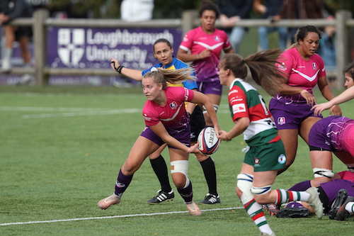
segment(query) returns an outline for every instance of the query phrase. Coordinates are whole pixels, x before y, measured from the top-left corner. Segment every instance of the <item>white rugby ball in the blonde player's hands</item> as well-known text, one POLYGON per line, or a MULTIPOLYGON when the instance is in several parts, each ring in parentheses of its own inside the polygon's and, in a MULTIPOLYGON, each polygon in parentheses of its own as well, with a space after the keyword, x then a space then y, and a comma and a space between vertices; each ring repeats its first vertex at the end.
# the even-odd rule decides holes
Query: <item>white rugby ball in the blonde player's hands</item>
POLYGON ((221 140, 217 138, 213 127, 206 127, 198 135, 198 148, 204 154, 213 154, 219 148, 221 140))

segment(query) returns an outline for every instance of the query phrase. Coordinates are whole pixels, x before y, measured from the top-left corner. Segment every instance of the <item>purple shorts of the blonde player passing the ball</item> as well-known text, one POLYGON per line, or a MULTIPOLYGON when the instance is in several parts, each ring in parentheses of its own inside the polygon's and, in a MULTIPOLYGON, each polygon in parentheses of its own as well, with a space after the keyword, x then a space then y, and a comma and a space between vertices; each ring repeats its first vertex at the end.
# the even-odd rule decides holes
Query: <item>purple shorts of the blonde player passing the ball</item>
MULTIPOLYGON (((172 137, 176 138, 176 140, 182 142, 185 146, 190 147, 190 126, 189 125, 184 129, 169 130, 166 128, 166 130, 172 137)), ((162 140, 161 137, 156 135, 154 131, 152 131, 152 129, 149 128, 148 126, 145 127, 144 130, 142 130, 142 134, 140 136, 146 137, 148 140, 155 142, 159 146, 165 143, 164 140, 162 140)), ((170 145, 168 146, 172 147, 170 145)), ((176 148, 176 147, 172 147, 172 148, 176 148)))

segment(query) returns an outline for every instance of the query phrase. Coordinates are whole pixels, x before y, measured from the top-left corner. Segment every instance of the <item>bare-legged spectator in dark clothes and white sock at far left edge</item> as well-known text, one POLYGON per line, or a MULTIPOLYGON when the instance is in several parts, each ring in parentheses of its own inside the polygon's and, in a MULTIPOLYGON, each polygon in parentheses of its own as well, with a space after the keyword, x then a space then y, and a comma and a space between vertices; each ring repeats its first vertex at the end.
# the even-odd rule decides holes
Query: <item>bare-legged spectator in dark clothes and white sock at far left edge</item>
MULTIPOLYGON (((2 0, 0 3, 0 25, 4 26, 6 47, 4 57, 1 63, 2 72, 11 71, 11 55, 13 51, 13 42, 18 41, 21 47, 21 55, 25 67, 30 67, 30 49, 29 38, 32 35, 32 29, 29 26, 10 26, 9 23, 16 18, 32 17, 32 10, 25 0, 2 0)), ((26 76, 26 75, 25 75, 26 76)), ((31 79, 30 75, 27 75, 31 79)), ((25 79, 23 77, 22 79, 25 79)))

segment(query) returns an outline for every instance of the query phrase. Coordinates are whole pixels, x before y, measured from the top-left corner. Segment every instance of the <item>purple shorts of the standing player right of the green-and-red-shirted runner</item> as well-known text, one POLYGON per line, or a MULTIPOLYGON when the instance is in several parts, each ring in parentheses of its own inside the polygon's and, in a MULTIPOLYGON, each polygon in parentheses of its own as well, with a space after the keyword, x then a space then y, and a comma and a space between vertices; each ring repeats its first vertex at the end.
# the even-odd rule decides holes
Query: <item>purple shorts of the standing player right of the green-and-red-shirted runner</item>
MULTIPOLYGON (((296 106, 282 103, 272 98, 269 102, 270 113, 272 113, 278 130, 299 129, 300 124, 309 116, 314 116, 311 106, 307 103, 297 103, 296 106)), ((322 118, 323 116, 316 116, 322 118)))

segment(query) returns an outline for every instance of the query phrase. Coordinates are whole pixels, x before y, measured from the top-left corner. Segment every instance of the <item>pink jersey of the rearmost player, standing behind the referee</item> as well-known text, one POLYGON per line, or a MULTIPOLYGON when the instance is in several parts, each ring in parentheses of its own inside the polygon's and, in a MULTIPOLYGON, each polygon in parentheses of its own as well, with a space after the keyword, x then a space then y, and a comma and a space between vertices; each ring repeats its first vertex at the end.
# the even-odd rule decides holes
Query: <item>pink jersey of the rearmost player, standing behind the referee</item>
POLYGON ((207 34, 202 27, 188 31, 179 46, 191 54, 199 54, 205 49, 211 50, 211 56, 193 62, 195 64, 196 77, 198 82, 215 81, 219 79, 217 75, 217 65, 219 64, 222 50, 227 50, 231 46, 227 33, 215 28, 214 33, 207 34))

